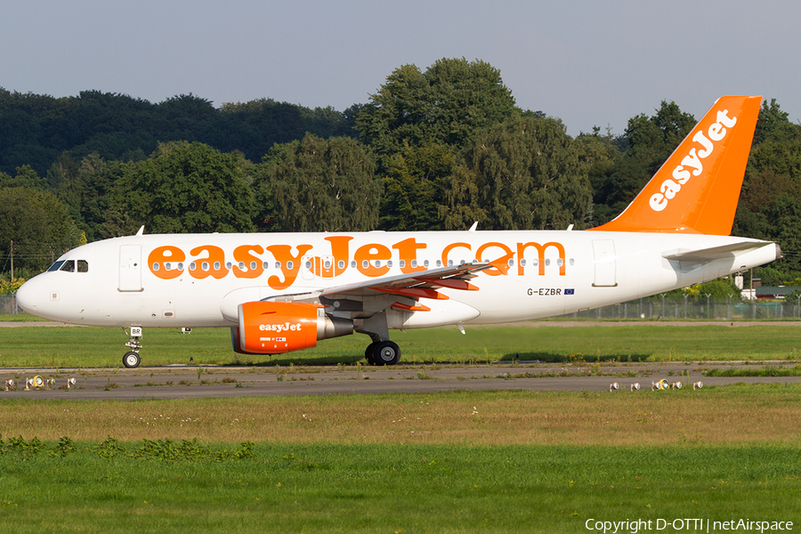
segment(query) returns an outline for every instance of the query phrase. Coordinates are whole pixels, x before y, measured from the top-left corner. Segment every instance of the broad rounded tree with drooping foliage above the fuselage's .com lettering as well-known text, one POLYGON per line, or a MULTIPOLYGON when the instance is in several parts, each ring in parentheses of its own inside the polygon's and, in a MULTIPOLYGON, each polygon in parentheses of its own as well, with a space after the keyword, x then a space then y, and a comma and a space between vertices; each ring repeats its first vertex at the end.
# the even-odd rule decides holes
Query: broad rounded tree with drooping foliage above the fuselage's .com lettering
POLYGON ((563 230, 587 225, 592 190, 580 145, 554 118, 515 115, 481 130, 449 183, 449 229, 563 230))

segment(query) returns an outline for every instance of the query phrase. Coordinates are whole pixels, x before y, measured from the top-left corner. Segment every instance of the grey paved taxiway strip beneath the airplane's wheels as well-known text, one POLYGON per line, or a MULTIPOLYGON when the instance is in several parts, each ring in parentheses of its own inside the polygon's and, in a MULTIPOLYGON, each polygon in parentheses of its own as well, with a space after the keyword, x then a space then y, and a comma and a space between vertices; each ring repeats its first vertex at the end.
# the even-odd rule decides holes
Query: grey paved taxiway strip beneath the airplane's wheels
POLYGON ((524 390, 609 392, 617 382, 619 393, 631 394, 632 384, 650 390, 665 379, 684 387, 702 381, 704 387, 726 384, 799 383, 801 376, 703 376, 709 368, 792 367, 787 362, 603 363, 589 365, 490 364, 475 366, 364 366, 304 368, 231 368, 170 366, 165 368, 0 368, 0 386, 11 378, 12 391, 0 399, 85 399, 134 401, 141 399, 196 399, 279 395, 427 393, 446 391, 524 390), (686 374, 689 372, 689 376, 686 374), (53 378, 54 389, 24 391, 26 378, 53 378), (74 377, 74 389, 66 389, 74 377))

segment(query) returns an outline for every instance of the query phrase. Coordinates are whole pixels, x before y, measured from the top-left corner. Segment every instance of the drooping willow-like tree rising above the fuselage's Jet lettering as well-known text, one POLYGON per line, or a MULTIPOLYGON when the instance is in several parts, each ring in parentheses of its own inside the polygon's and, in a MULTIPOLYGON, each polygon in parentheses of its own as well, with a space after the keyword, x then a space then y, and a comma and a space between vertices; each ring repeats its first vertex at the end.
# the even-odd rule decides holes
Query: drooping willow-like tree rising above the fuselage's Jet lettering
POLYGON ((378 223, 382 185, 375 159, 348 137, 276 145, 256 176, 258 216, 276 231, 368 231, 378 223))

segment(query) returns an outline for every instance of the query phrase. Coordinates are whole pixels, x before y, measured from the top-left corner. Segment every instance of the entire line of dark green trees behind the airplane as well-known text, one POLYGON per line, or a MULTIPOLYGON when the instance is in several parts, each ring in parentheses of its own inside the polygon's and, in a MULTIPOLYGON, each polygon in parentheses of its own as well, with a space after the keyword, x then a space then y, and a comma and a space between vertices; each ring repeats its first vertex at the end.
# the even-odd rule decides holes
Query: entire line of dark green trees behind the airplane
MULTIPOLYGON (((696 120, 675 102, 623 134, 567 134, 498 69, 403 65, 344 112, 192 94, 158 104, 0 88, 0 272, 82 241, 228 231, 578 230, 619 214, 696 120)), ((801 126, 764 101, 733 233, 780 243, 764 283, 801 278, 801 126)), ((756 275, 755 275, 756 276, 756 275)))

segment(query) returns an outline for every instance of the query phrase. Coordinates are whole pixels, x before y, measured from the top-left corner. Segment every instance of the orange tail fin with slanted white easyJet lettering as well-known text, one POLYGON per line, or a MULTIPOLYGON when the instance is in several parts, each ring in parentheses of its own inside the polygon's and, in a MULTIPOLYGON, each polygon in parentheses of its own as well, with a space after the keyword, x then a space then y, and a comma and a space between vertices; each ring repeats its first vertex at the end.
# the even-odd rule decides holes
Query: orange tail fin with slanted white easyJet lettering
POLYGON ((729 235, 761 101, 716 101, 623 213, 592 230, 729 235))

